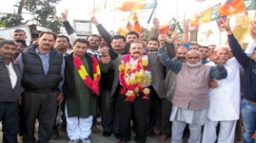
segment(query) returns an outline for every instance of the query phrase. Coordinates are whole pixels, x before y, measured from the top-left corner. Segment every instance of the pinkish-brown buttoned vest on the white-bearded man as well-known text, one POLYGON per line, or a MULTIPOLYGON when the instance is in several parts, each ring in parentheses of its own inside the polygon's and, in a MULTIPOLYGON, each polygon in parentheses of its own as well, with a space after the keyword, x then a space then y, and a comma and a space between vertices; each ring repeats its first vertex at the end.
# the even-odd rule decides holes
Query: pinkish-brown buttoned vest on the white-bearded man
POLYGON ((183 64, 181 71, 177 73, 172 104, 183 109, 207 109, 210 69, 211 66, 191 67, 183 64))

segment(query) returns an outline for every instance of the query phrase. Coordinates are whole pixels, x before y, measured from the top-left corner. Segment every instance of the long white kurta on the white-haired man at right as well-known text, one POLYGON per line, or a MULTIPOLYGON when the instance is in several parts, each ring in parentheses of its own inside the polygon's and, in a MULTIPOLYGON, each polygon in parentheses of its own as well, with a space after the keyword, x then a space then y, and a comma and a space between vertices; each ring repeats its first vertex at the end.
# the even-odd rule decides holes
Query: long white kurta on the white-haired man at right
POLYGON ((240 65, 235 58, 224 65, 228 77, 218 81, 218 88, 209 89, 207 117, 212 121, 236 120, 240 114, 240 65))

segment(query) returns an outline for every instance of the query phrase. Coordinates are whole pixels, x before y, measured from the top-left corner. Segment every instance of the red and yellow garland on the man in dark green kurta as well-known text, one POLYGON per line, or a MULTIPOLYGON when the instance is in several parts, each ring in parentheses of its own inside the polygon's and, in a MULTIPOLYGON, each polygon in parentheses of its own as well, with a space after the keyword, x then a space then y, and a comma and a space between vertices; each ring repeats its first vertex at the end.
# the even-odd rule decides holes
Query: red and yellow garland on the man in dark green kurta
POLYGON ((92 60, 92 72, 93 72, 93 80, 89 76, 86 71, 82 61, 78 56, 74 57, 74 65, 79 72, 79 76, 83 79, 84 83, 91 89, 92 94, 100 95, 99 90, 99 81, 101 79, 101 70, 98 61, 93 55, 90 55, 92 60))

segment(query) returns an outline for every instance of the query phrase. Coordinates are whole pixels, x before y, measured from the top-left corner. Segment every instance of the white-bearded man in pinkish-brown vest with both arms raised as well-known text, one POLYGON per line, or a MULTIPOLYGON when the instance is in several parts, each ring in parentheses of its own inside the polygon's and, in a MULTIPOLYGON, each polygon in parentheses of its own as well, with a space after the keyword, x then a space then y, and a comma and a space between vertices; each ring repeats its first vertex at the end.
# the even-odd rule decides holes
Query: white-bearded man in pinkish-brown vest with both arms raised
POLYGON ((218 66, 201 64, 201 53, 191 50, 186 55, 186 63, 171 60, 165 48, 159 49, 160 60, 177 74, 176 88, 172 98, 172 143, 183 142, 183 130, 189 123, 189 143, 201 142, 201 127, 207 120, 209 107, 208 83, 212 79, 223 79, 227 72, 222 66, 223 59, 216 59, 218 66))

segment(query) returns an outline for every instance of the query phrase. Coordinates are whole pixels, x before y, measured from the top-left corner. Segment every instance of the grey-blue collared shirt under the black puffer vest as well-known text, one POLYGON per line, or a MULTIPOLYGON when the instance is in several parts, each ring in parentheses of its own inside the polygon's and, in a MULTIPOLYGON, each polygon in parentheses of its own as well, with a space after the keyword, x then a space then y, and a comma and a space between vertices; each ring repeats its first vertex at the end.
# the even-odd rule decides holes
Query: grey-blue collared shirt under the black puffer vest
MULTIPOLYGON (((47 54, 42 54, 40 53, 40 51, 37 49, 35 49, 36 51, 36 54, 38 54, 39 58, 41 59, 42 61, 42 65, 43 65, 43 68, 44 68, 44 74, 47 75, 48 71, 49 71, 49 53, 47 54)), ((18 57, 17 57, 17 61, 19 62, 19 66, 20 66, 20 71, 21 73, 23 73, 23 69, 24 69, 24 65, 23 65, 23 60, 22 60, 22 54, 20 54, 18 57)), ((59 83, 59 89, 62 91, 62 85, 64 83, 64 70, 65 70, 65 60, 64 60, 64 57, 63 57, 63 60, 62 60, 62 64, 61 64, 61 77, 62 77, 62 80, 61 82, 59 83)))

